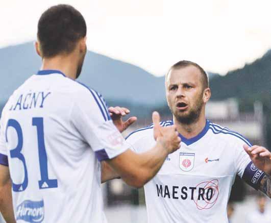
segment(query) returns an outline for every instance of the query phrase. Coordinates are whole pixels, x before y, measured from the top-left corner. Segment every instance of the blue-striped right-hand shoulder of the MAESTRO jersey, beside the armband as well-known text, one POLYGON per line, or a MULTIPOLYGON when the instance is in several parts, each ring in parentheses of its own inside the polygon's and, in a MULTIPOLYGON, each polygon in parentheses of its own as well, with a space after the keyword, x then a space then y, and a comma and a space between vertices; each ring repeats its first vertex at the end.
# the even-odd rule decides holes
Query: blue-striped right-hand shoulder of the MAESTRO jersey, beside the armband
POLYGON ((245 138, 243 135, 239 134, 238 132, 235 132, 227 127, 220 126, 216 123, 213 123, 210 121, 209 123, 209 130, 211 133, 219 138, 226 139, 229 143, 238 143, 243 144, 246 143, 251 146, 250 141, 245 138))

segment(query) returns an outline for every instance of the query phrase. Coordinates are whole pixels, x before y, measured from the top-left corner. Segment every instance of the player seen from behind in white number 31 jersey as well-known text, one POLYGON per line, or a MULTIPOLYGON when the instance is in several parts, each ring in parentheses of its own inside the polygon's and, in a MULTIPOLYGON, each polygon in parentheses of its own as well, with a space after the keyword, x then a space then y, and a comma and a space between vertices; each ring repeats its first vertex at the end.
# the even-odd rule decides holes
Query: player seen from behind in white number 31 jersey
POLYGON ((99 161, 141 187, 181 139, 176 128, 160 127, 156 112, 155 145, 140 155, 129 150, 101 94, 75 81, 87 50, 75 8, 46 10, 37 37, 41 70, 14 91, 1 117, 0 211, 8 223, 106 222, 99 161))

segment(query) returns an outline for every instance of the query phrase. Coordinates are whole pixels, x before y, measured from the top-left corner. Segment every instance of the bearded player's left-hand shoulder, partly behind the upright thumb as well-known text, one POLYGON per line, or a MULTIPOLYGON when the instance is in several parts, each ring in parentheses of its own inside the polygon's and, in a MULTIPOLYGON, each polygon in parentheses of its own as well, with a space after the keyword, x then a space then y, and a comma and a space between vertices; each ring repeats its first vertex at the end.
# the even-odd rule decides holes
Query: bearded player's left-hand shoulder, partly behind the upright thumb
MULTIPOLYGON (((160 125, 162 127, 171 126, 171 125, 173 125, 173 121, 172 120, 161 121, 160 125)), ((152 123, 150 126, 146 126, 146 127, 137 129, 134 132, 130 133, 126 137, 126 140, 140 139, 140 138, 143 138, 143 137, 146 137, 146 136, 153 137, 153 128, 154 128, 154 124, 152 123)))

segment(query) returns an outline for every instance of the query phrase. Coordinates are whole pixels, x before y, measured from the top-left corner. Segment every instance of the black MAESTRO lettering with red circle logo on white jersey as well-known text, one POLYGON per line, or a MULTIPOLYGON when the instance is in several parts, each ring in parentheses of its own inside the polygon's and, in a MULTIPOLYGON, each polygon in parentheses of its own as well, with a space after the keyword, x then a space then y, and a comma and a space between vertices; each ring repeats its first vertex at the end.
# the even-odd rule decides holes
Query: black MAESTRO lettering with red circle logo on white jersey
POLYGON ((168 186, 156 184, 157 196, 164 199, 190 200, 199 210, 212 208, 219 196, 218 180, 201 182, 196 186, 168 186))

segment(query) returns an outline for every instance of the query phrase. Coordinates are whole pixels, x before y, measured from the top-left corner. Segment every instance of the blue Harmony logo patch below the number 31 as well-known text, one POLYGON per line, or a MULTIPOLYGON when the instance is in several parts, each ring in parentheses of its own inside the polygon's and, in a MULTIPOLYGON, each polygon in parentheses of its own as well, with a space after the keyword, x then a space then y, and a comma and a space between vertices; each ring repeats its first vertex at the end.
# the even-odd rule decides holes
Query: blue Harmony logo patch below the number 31
POLYGON ((40 223, 44 219, 44 203, 41 201, 24 201, 16 209, 16 220, 40 223))

